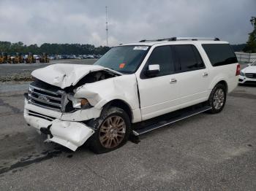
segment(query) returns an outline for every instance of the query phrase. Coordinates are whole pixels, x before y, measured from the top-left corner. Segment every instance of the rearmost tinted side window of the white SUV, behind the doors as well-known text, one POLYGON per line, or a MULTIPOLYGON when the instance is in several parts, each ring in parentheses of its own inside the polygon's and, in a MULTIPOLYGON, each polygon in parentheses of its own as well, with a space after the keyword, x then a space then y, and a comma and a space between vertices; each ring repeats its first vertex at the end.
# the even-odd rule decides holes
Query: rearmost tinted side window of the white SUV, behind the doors
POLYGON ((212 66, 237 63, 237 58, 230 44, 202 44, 212 66))

